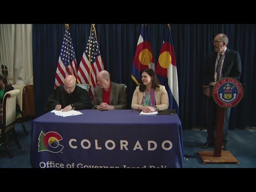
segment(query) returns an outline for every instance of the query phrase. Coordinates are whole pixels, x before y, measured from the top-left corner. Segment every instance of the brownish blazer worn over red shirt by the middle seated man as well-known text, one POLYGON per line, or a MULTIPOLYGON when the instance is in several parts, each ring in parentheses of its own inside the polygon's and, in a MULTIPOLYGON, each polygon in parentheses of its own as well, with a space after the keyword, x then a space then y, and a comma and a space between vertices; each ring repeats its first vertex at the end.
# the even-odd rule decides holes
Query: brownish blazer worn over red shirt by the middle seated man
MULTIPOLYGON (((93 108, 96 109, 98 105, 103 102, 103 91, 102 88, 96 87, 94 89, 94 102, 93 108)), ((127 100, 124 87, 120 84, 111 82, 110 89, 110 105, 114 106, 115 109, 126 109, 127 100)))

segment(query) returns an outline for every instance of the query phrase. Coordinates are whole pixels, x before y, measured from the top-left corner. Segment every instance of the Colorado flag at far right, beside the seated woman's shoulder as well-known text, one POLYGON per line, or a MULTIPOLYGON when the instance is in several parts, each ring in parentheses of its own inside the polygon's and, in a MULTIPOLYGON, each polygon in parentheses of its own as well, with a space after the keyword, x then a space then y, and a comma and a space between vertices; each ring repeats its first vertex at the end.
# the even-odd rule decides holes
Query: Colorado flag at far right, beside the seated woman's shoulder
POLYGON ((175 109, 177 114, 179 114, 178 75, 169 24, 155 72, 158 75, 160 83, 165 86, 168 92, 170 109, 175 109))

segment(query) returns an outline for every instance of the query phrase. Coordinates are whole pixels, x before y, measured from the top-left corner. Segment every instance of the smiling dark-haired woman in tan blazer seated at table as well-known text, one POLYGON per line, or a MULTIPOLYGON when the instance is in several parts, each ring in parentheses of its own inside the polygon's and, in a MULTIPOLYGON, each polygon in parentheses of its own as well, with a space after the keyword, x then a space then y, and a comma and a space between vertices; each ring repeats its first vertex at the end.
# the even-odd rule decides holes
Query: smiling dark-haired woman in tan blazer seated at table
POLYGON ((168 109, 169 98, 165 86, 160 85, 154 70, 142 71, 140 85, 132 96, 132 109, 145 113, 168 109))

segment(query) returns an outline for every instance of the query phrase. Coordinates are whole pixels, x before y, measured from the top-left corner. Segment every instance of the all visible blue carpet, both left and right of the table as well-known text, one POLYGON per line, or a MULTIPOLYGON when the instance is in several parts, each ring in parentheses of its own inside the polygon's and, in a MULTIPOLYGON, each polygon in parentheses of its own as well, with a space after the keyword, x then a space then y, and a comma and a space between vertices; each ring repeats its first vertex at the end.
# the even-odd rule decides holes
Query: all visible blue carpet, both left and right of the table
MULTIPOLYGON (((22 149, 16 146, 10 134, 9 148, 14 156, 12 159, 6 150, 0 147, 0 168, 31 168, 30 143, 32 120, 25 123, 28 136, 25 135, 21 124, 16 124, 16 132, 22 149)), ((184 168, 256 168, 256 132, 250 129, 229 130, 227 150, 229 150, 240 164, 202 164, 198 154, 201 146, 206 142, 206 131, 200 129, 183 130, 184 139, 184 168)))

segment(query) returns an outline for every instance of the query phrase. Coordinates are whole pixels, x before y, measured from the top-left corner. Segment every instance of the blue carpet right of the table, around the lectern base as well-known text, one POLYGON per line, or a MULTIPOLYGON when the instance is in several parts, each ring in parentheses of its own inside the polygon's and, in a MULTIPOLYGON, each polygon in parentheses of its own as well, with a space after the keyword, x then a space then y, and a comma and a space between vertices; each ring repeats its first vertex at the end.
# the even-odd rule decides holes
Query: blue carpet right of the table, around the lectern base
POLYGON ((226 150, 240 164, 202 164, 198 151, 213 151, 214 148, 202 149, 206 142, 207 132, 204 130, 184 130, 184 168, 256 168, 256 132, 246 129, 228 130, 226 150))

